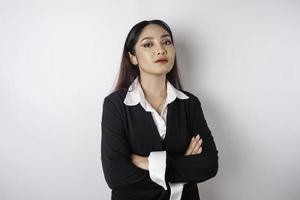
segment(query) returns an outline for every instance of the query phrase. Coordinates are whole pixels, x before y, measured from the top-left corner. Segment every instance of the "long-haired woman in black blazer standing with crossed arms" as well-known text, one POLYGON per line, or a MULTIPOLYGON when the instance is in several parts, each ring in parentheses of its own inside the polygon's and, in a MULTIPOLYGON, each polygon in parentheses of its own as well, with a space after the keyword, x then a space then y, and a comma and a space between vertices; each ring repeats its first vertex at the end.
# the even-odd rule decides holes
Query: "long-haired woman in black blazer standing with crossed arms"
POLYGON ((130 30, 101 126, 111 199, 199 200, 197 183, 218 171, 201 103, 181 87, 172 32, 161 20, 130 30))

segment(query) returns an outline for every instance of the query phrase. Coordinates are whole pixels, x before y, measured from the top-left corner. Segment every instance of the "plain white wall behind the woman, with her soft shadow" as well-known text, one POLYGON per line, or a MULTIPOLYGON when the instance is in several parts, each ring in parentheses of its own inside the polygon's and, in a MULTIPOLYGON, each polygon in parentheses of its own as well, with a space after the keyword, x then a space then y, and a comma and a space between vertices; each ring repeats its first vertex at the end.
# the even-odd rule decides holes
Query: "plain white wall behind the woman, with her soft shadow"
POLYGON ((300 199, 300 2, 0 0, 0 199, 109 200, 104 97, 142 20, 174 34, 219 150, 201 200, 300 199))

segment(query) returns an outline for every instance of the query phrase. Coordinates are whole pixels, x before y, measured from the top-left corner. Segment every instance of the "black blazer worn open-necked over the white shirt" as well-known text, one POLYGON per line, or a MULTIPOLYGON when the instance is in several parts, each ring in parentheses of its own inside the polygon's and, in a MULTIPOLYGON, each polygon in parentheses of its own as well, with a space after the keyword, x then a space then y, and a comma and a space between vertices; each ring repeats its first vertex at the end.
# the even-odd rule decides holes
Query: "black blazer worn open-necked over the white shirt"
POLYGON ((166 136, 162 140, 151 112, 140 104, 123 103, 127 90, 104 98, 101 121, 101 159, 105 180, 114 200, 169 200, 168 190, 150 178, 149 171, 136 167, 131 154, 149 156, 166 151, 166 182, 186 182, 182 200, 199 200, 197 183, 217 174, 218 150, 207 126, 199 99, 180 90, 188 99, 168 104, 166 136), (200 135, 202 153, 184 156, 191 138, 200 135))

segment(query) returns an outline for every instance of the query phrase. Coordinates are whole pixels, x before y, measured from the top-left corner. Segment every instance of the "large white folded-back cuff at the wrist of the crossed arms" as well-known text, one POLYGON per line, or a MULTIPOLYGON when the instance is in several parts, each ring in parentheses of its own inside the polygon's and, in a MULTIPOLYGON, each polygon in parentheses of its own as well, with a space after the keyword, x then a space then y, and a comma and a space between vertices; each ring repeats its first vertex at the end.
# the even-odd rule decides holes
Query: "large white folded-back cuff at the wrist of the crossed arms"
POLYGON ((148 157, 149 174, 152 181, 167 190, 165 181, 166 151, 152 151, 148 157))

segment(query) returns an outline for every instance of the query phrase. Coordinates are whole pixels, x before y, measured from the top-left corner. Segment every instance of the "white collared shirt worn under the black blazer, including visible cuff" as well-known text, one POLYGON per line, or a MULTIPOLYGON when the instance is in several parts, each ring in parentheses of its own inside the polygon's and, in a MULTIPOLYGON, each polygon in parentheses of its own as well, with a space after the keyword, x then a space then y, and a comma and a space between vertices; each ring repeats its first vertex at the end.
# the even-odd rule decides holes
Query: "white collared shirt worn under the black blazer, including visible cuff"
MULTIPOLYGON (((166 117, 168 104, 173 102, 176 98, 188 99, 189 97, 183 92, 176 89, 167 80, 167 98, 163 106, 161 114, 151 106, 151 104, 145 99, 143 89, 139 82, 139 76, 135 78, 132 84, 128 88, 124 103, 128 106, 137 105, 138 103, 144 108, 145 111, 151 112, 154 122, 156 124, 157 130, 162 139, 166 136, 166 117)), ((165 190, 167 190, 167 185, 165 182, 165 171, 166 171, 166 151, 153 151, 148 157, 149 161, 149 174, 150 178, 161 185, 165 190)), ((169 183, 171 188, 170 200, 180 200, 182 195, 183 186, 185 183, 169 183)))

